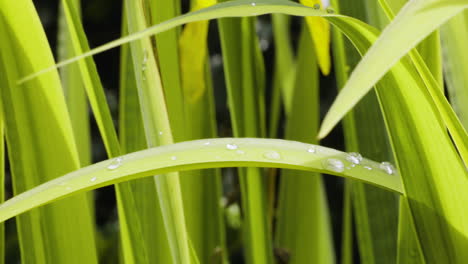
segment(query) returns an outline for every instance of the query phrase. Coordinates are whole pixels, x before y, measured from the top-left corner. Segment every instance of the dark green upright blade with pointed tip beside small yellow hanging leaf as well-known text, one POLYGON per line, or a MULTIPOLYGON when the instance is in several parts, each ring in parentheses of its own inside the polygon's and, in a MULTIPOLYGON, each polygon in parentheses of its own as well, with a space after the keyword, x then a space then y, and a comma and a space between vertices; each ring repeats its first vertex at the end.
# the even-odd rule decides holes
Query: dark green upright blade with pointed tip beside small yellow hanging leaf
MULTIPOLYGON (((319 69, 314 44, 304 25, 298 49, 292 111, 286 137, 316 143, 319 125, 319 69)), ((280 181, 276 246, 289 263, 335 263, 329 212, 322 178, 317 173, 284 170, 280 181)))

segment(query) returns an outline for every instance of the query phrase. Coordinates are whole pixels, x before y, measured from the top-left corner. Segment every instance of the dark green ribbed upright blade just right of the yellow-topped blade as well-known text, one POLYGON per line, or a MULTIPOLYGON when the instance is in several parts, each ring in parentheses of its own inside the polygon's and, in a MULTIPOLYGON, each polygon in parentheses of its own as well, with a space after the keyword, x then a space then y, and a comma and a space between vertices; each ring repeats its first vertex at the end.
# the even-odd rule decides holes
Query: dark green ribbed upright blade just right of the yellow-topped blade
MULTIPOLYGON (((255 20, 222 19, 219 20, 219 31, 234 136, 265 135, 265 117, 262 109, 264 72, 261 72, 263 59, 259 54, 255 20)), ((258 169, 248 168, 240 169, 239 176, 247 262, 271 263, 273 249, 266 215, 266 186, 263 175, 258 169)))

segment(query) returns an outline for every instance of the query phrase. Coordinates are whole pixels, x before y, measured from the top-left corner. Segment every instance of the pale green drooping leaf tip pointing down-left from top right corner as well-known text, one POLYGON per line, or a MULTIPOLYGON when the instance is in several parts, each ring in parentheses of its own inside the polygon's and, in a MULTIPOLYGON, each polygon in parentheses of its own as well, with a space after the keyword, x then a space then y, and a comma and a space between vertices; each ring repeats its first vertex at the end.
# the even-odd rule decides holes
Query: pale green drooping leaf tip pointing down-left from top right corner
POLYGON ((441 24, 468 7, 441 0, 410 1, 385 28, 338 95, 320 129, 324 137, 398 60, 441 24), (442 7, 433 7, 440 4, 442 7), (423 23, 424 22, 424 23, 423 23), (387 41, 387 40, 398 41, 387 41), (386 52, 391 50, 392 52, 386 52), (384 57, 382 57, 384 56, 384 57))

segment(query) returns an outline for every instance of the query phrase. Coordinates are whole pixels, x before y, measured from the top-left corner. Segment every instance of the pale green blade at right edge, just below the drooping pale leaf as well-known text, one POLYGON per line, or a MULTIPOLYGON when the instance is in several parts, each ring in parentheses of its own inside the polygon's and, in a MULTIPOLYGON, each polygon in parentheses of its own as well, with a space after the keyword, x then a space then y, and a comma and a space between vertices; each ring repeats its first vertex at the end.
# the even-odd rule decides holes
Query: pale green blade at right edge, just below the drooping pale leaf
POLYGON ((441 28, 444 54, 444 72, 453 109, 461 123, 468 129, 468 11, 452 18, 441 28))

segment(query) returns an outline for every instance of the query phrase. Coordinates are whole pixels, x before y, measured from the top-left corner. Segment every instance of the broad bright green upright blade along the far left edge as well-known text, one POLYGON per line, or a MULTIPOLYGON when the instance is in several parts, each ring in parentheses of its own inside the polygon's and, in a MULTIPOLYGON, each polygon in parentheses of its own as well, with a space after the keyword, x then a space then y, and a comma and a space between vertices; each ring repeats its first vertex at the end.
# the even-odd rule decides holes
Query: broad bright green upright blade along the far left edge
MULTIPOLYGON (((54 64, 32 3, 2 1, 0 31, 1 100, 13 188, 20 193, 78 169, 79 160, 57 71, 20 86, 15 81, 54 64)), ((25 263, 97 263, 86 195, 18 217, 17 226, 25 263)))

